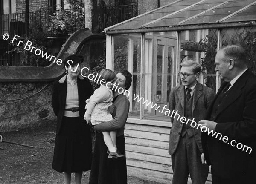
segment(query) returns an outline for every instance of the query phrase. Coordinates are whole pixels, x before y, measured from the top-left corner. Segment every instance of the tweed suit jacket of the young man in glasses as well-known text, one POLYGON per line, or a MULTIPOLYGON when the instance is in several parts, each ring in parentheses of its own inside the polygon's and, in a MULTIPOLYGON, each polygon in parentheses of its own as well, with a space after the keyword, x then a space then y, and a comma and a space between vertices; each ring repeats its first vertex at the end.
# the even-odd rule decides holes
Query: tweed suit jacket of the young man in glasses
MULTIPOLYGON (((213 89, 208 88, 201 83, 196 84, 192 101, 192 117, 195 118, 194 121, 196 123, 204 118, 206 110, 212 102, 214 95, 215 92, 213 89)), ((183 85, 173 88, 169 97, 169 110, 175 110, 175 112, 177 110, 180 117, 182 117, 184 115, 185 98, 185 87, 183 85)), ((169 141, 170 155, 174 154, 175 150, 177 149, 183 125, 183 123, 180 122, 180 119, 177 121, 177 117, 171 118, 171 121, 172 129, 170 132, 169 141)), ((200 152, 203 152, 201 144, 201 130, 193 128, 193 133, 198 149, 200 150, 200 152)))

